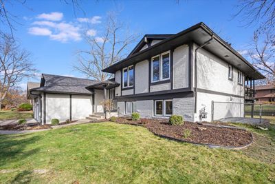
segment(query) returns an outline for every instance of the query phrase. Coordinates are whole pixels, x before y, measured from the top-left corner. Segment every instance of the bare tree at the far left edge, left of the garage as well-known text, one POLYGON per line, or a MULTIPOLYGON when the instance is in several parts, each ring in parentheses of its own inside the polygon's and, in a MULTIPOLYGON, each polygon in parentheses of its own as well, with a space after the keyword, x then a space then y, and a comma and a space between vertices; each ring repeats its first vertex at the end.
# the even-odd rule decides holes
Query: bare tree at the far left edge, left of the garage
POLYGON ((11 35, 0 34, 0 107, 12 88, 26 77, 35 76, 37 70, 30 61, 30 53, 21 50, 11 35))

